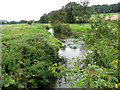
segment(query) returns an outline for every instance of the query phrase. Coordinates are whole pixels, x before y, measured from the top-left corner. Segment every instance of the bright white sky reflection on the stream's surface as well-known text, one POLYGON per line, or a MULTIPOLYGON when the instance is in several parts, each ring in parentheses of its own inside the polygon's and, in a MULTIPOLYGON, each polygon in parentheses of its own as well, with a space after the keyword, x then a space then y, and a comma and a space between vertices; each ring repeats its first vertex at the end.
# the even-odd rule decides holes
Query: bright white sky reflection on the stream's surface
MULTIPOLYGON (((59 34, 60 35, 60 34, 59 34)), ((62 35, 63 36, 63 35, 62 35)), ((75 62, 76 59, 72 59, 73 57, 78 57, 80 59, 85 59, 86 50, 85 50, 85 43, 82 40, 79 39, 73 39, 70 37, 63 37, 62 39, 57 36, 59 40, 62 41, 62 46, 65 46, 64 49, 60 49, 59 55, 67 58, 67 68, 73 67, 72 64, 68 65, 69 62, 75 62)), ((75 86, 74 86, 75 87, 75 86)), ((71 88, 70 83, 65 84, 64 78, 61 78, 61 80, 57 79, 55 82, 55 85, 53 88, 71 88), (61 86, 59 86, 59 81, 61 81, 61 86)))

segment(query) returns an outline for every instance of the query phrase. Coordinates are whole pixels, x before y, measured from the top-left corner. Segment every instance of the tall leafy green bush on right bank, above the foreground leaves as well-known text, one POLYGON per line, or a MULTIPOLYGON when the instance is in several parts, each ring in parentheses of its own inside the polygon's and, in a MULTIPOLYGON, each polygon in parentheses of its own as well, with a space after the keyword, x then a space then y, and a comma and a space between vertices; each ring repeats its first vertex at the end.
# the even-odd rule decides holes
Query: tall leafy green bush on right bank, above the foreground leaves
POLYGON ((85 37, 85 42, 92 49, 93 53, 89 53, 86 64, 97 64, 106 68, 110 68, 110 62, 117 59, 118 52, 118 32, 117 24, 104 17, 96 17, 91 21, 91 29, 85 37), (102 20, 101 20, 102 19, 102 20))

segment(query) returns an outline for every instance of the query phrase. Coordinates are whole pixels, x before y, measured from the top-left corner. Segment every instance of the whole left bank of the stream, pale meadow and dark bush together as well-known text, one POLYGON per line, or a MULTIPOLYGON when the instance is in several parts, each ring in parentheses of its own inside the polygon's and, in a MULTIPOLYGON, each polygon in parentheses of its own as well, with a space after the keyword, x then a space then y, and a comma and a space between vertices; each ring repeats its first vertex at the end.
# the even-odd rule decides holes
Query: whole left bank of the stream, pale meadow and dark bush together
MULTIPOLYGON (((49 26, 49 25, 48 25, 49 26)), ((2 25, 2 84, 38 88, 49 82, 48 67, 59 62, 61 42, 40 24, 2 25)))

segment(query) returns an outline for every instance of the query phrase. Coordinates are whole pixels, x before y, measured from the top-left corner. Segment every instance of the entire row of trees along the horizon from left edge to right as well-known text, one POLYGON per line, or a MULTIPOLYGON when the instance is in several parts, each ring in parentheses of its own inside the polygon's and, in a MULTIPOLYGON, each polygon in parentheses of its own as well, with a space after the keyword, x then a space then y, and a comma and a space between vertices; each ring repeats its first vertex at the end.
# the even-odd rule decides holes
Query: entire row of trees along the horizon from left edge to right
POLYGON ((48 14, 44 14, 40 17, 40 20, 21 20, 21 21, 6 21, 6 20, 0 20, 0 24, 21 24, 21 23, 50 23, 51 21, 51 15, 54 14, 54 19, 64 19, 64 23, 84 23, 86 22, 85 19, 89 18, 91 14, 96 13, 116 13, 120 12, 118 9, 120 3, 118 4, 105 4, 105 5, 93 5, 93 6, 87 6, 89 2, 69 2, 64 7, 62 7, 59 10, 52 11, 48 14), (57 17, 56 17, 57 16, 57 17))

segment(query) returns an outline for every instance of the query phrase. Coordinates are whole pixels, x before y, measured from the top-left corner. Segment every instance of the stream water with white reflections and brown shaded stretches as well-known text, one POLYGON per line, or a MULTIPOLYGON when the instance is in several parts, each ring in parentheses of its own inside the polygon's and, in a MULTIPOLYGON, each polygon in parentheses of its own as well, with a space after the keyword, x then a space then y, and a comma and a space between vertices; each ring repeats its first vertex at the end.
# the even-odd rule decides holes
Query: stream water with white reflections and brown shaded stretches
MULTIPOLYGON (((75 62, 76 59, 72 59, 73 57, 79 57, 79 59, 85 59, 86 50, 85 43, 83 40, 73 39, 71 36, 66 34, 54 34, 52 29, 48 30, 51 33, 51 36, 54 35, 57 39, 62 41, 62 46, 65 48, 59 49, 59 56, 66 58, 66 67, 72 67, 72 65, 68 65, 69 62, 75 62)), ((70 84, 65 84, 64 78, 61 79, 61 86, 59 86, 59 79, 52 79, 48 88, 70 88, 70 84)))

